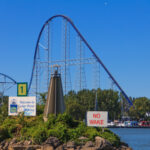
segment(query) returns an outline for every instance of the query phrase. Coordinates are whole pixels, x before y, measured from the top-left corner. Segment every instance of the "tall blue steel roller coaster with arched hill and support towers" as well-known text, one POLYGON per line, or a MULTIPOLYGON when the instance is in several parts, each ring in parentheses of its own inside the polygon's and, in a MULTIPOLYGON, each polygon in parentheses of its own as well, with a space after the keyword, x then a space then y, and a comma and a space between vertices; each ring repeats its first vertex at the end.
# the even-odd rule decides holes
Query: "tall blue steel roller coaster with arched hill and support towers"
MULTIPOLYGON (((50 77, 56 66, 62 76, 64 94, 71 90, 105 89, 108 87, 104 79, 109 79, 112 88, 115 85, 129 105, 133 105, 71 19, 64 15, 49 18, 40 30, 28 86, 29 96, 36 96, 38 101, 40 93, 48 91, 50 77)), ((0 82, 0 86, 3 87, 17 83, 2 73, 0 73, 0 78, 4 78, 0 82), (5 82, 6 79, 9 81, 5 82)), ((1 93, 4 93, 3 91, 1 93)))

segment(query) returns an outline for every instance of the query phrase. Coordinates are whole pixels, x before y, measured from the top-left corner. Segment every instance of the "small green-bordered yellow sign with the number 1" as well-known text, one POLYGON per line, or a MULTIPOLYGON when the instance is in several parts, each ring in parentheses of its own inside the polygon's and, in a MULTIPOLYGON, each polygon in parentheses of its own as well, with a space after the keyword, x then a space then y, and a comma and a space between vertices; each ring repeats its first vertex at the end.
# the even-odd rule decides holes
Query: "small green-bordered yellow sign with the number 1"
POLYGON ((17 96, 27 96, 27 82, 17 83, 17 96))

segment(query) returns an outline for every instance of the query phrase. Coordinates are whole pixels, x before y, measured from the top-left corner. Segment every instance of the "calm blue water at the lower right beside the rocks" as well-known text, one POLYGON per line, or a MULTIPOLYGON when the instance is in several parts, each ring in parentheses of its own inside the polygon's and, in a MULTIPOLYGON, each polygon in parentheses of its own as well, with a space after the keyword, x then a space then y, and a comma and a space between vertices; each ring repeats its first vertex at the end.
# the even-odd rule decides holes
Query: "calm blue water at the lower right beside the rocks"
POLYGON ((150 150, 150 128, 111 128, 133 150, 150 150))

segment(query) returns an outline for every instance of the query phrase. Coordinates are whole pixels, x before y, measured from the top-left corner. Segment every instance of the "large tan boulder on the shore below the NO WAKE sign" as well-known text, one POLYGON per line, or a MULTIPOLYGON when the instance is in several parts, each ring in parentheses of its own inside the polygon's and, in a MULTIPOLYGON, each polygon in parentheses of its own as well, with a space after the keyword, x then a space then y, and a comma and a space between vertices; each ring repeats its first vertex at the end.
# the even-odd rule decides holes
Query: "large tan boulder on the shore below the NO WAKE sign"
POLYGON ((104 150, 113 150, 113 146, 110 142, 108 142, 106 139, 101 138, 99 136, 95 137, 95 146, 98 149, 104 149, 104 150))

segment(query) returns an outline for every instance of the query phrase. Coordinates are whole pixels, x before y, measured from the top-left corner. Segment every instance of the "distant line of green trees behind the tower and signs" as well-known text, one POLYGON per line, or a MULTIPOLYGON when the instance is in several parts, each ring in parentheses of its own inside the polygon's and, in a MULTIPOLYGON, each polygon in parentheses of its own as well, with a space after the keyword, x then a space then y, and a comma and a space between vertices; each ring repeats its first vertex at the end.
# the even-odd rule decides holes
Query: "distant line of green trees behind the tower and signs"
MULTIPOLYGON (((64 96, 66 112, 74 119, 85 119, 86 111, 95 110, 97 93, 97 110, 108 111, 109 120, 118 120, 122 116, 128 116, 132 120, 150 120, 150 100, 146 97, 132 98, 133 106, 130 107, 127 100, 118 91, 109 90, 81 90, 70 91, 64 96)), ((40 94, 40 102, 37 104, 37 115, 43 113, 47 93, 40 94)), ((1 103, 0 99, 0 103, 1 103)), ((0 106, 0 120, 8 115, 8 97, 4 97, 4 104, 0 106)))

